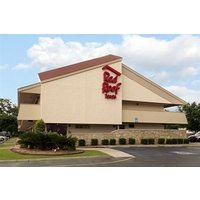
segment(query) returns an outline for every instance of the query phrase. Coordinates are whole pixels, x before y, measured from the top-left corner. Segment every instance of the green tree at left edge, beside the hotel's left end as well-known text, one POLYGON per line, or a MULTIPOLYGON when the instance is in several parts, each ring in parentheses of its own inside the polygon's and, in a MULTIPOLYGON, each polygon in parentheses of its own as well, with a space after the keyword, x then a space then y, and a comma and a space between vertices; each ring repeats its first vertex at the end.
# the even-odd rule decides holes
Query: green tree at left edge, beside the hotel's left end
POLYGON ((0 98, 0 131, 16 133, 18 107, 9 99, 0 98))

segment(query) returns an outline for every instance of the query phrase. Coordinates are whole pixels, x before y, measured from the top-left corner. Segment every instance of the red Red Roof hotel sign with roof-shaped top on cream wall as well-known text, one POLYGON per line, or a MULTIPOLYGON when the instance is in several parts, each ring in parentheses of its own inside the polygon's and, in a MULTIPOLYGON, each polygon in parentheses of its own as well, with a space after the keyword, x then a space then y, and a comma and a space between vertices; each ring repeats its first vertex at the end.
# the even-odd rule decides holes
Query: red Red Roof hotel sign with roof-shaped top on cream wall
POLYGON ((105 94, 106 99, 116 99, 122 84, 118 82, 118 77, 121 73, 108 65, 104 66, 102 70, 104 70, 102 93, 105 94))

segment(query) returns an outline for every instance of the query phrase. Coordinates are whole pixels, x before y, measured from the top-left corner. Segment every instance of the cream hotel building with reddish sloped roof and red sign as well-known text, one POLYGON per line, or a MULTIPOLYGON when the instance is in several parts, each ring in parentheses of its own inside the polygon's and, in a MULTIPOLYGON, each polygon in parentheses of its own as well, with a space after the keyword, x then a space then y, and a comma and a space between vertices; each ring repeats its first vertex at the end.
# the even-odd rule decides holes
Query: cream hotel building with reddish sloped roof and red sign
POLYGON ((166 111, 186 102, 106 55, 38 74, 18 89, 19 131, 43 119, 47 131, 107 134, 118 129, 164 129, 187 124, 184 113, 166 111))

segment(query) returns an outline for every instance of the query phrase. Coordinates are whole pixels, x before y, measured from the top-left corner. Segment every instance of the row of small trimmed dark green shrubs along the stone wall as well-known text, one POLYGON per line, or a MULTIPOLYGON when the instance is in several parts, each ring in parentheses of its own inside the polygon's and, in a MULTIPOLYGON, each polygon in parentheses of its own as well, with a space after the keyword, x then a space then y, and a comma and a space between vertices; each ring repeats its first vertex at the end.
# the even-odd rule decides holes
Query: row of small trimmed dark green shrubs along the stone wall
MULTIPOLYGON (((120 145, 126 145, 126 144, 135 144, 135 138, 129 138, 128 140, 126 138, 119 138, 119 144, 120 145)), ((155 144, 154 138, 143 138, 140 140, 140 144, 155 144)), ((188 139, 182 139, 182 138, 171 138, 171 139, 165 139, 165 138, 159 138, 158 144, 189 144, 188 139)), ((86 142, 84 139, 78 140, 79 146, 85 146, 86 142)), ((91 146, 99 145, 98 139, 91 139, 91 146)), ((101 140, 101 145, 116 145, 116 139, 103 139, 101 140)))

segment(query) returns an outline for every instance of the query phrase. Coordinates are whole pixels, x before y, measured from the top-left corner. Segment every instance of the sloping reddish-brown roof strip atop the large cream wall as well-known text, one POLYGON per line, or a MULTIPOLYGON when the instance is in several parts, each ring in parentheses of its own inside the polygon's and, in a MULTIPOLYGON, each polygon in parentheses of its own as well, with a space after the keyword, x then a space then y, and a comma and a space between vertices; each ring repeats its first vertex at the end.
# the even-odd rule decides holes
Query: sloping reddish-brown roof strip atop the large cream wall
POLYGON ((87 61, 83 61, 80 63, 76 63, 76 64, 72 64, 72 65, 68 65, 65 67, 60 67, 57 69, 52 69, 46 72, 41 72, 38 74, 39 78, 41 81, 47 80, 47 79, 51 79, 51 78, 55 78, 58 76, 62 76, 65 74, 69 74, 72 72, 76 72, 79 70, 83 70, 83 69, 87 69, 96 65, 101 65, 101 64, 105 64, 105 63, 109 63, 109 62, 113 62, 116 60, 121 60, 122 57, 119 56, 115 56, 112 54, 109 54, 107 56, 103 56, 103 57, 99 57, 99 58, 95 58, 92 60, 87 60, 87 61))

